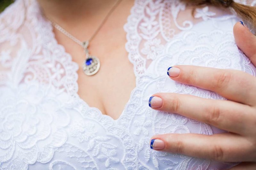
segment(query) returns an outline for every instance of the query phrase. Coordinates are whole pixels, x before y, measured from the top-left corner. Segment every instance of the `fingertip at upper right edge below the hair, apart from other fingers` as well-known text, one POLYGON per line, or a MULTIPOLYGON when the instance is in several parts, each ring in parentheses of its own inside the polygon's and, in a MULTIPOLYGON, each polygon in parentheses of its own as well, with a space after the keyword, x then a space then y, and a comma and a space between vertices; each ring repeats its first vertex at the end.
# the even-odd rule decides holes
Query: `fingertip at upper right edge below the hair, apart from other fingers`
POLYGON ((256 36, 240 22, 236 23, 233 32, 237 46, 256 65, 256 36))

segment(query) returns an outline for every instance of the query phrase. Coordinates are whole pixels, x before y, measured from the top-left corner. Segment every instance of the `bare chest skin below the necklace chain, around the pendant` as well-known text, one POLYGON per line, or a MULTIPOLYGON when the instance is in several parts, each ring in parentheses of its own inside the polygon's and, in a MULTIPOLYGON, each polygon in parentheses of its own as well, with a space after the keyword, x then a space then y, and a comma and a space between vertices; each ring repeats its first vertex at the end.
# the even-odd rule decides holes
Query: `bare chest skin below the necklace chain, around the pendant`
POLYGON ((82 63, 85 59, 83 48, 54 30, 58 43, 65 47, 72 60, 79 65, 78 95, 90 107, 100 109, 102 114, 109 115, 113 119, 118 119, 122 114, 135 88, 135 75, 125 50, 126 33, 123 28, 133 3, 133 1, 121 2, 90 42, 90 54, 97 56, 101 63, 100 70, 93 76, 86 76, 83 72, 82 63))

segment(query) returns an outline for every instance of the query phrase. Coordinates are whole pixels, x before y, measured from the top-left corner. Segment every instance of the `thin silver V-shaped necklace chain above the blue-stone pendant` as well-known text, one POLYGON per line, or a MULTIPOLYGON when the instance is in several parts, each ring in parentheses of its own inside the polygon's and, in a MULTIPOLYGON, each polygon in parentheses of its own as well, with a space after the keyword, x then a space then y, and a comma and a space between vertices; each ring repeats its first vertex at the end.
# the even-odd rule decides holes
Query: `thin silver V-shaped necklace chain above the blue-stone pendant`
POLYGON ((82 46, 87 53, 89 53, 88 51, 88 46, 89 46, 89 42, 92 41, 92 39, 96 36, 96 34, 100 31, 100 28, 105 24, 105 22, 107 21, 108 17, 111 15, 111 13, 116 9, 116 7, 120 4, 122 0, 117 0, 116 3, 113 5, 113 7, 110 9, 110 11, 107 13, 107 15, 105 16, 105 18, 102 20, 102 22, 100 23, 100 26, 98 26, 98 28, 96 29, 96 31, 92 34, 92 36, 89 38, 88 41, 80 41, 78 40, 75 36, 73 36, 71 33, 68 33, 68 31, 66 31, 63 27, 61 27, 59 24, 57 24, 56 22, 52 21, 51 19, 49 19, 52 22, 52 25, 59 30, 61 33, 63 33, 64 35, 66 35, 68 38, 70 38, 71 40, 75 41, 77 44, 79 44, 80 46, 82 46))

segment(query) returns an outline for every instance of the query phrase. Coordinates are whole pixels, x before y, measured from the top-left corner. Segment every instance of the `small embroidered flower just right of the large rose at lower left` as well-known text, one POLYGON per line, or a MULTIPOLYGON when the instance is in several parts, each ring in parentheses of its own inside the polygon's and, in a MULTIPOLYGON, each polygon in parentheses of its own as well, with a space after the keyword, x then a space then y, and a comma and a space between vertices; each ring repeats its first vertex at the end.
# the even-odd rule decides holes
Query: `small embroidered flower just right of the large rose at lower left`
POLYGON ((90 138, 96 136, 96 130, 94 129, 94 124, 91 122, 76 122, 70 130, 72 137, 77 137, 78 141, 84 142, 88 141, 90 138))

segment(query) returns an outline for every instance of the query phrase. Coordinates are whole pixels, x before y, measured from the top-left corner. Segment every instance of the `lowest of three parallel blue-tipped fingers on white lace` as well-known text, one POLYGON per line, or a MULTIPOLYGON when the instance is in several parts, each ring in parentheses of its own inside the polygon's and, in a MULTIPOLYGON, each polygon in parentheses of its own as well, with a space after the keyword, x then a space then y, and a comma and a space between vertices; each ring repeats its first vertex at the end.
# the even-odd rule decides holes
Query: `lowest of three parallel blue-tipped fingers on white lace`
POLYGON ((215 135, 163 134, 153 136, 150 148, 215 161, 253 161, 251 143, 232 133, 215 135))

